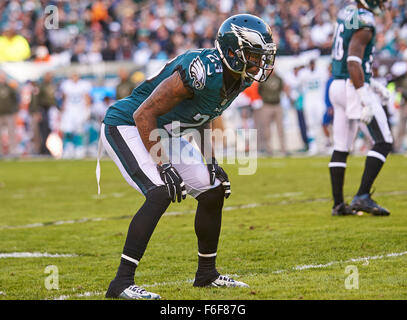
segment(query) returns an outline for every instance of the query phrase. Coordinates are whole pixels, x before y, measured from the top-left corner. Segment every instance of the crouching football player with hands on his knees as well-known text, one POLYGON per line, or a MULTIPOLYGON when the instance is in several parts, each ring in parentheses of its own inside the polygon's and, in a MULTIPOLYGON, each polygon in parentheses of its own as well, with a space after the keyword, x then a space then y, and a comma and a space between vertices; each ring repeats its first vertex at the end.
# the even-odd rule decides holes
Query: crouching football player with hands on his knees
POLYGON ((182 133, 208 127, 253 81, 267 80, 275 55, 270 27, 253 15, 235 15, 221 25, 215 48, 177 56, 107 110, 101 141, 145 202, 130 223, 106 297, 160 298, 134 283, 135 270, 162 214, 171 201, 181 202, 187 194, 197 200, 198 268, 193 285, 247 286, 220 275, 215 265, 223 201, 231 194, 228 175, 213 154, 192 147, 182 133), (170 138, 151 139, 156 129, 166 130, 170 138), (166 144, 180 148, 164 148, 166 144), (180 155, 185 148, 195 161, 187 161, 183 152, 180 155))

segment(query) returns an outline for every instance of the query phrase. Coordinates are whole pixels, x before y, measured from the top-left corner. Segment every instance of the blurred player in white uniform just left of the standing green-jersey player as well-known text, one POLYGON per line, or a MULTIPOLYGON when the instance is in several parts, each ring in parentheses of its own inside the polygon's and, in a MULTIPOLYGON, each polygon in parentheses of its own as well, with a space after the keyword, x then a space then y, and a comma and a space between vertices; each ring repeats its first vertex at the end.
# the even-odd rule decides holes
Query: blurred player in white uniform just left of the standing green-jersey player
POLYGON ((326 70, 316 68, 315 60, 298 74, 304 96, 304 116, 308 135, 308 155, 314 156, 320 150, 317 136, 322 130, 322 119, 325 112, 324 85, 328 79, 326 70))

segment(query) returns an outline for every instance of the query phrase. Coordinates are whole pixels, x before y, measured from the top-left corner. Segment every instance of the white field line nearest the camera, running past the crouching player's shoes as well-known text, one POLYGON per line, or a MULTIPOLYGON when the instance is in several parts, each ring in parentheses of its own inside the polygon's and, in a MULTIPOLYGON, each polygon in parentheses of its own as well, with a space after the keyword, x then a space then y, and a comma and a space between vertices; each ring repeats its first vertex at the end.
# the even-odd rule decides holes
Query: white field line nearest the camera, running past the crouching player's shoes
MULTIPOLYGON (((340 263, 350 263, 350 262, 364 262, 368 263, 369 260, 380 260, 380 259, 385 259, 385 258, 392 258, 392 257, 400 257, 407 255, 407 251, 403 252, 397 252, 397 253, 387 253, 383 255, 377 255, 377 256, 368 256, 368 257, 361 257, 361 258, 352 258, 349 260, 344 260, 344 261, 331 261, 325 264, 309 264, 309 265, 299 265, 292 267, 290 269, 284 269, 284 270, 276 270, 272 271, 272 274, 280 274, 280 273, 285 273, 285 272, 290 272, 290 271, 303 271, 303 270, 308 270, 308 269, 323 269, 323 268, 328 268, 334 264, 340 264, 340 263)), ((234 278, 239 278, 238 275, 229 275, 234 278)), ((257 277, 259 274, 251 273, 245 276, 247 277, 257 277)), ((193 279, 188 279, 188 280, 178 280, 178 281, 170 281, 170 282, 161 282, 161 283, 153 283, 153 284, 144 284, 141 285, 141 287, 144 288, 153 288, 153 287, 160 287, 160 286, 174 286, 174 285, 180 285, 180 284, 186 284, 186 283, 193 283, 193 279)), ((75 298, 75 297, 90 297, 90 296, 96 296, 96 295, 104 295, 104 292, 85 292, 85 293, 80 293, 80 294, 74 294, 74 295, 62 295, 57 298, 53 298, 53 300, 66 300, 70 298, 75 298)))

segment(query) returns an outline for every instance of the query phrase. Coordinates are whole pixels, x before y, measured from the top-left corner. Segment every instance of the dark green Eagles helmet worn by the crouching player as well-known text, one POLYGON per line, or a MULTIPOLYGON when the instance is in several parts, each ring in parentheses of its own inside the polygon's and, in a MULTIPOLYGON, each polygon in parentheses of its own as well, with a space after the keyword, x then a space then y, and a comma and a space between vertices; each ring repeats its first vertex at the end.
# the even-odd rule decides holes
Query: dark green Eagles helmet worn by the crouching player
POLYGON ((256 16, 238 14, 226 19, 215 46, 226 67, 243 77, 263 82, 273 71, 277 47, 270 27, 256 16), (253 69, 255 74, 248 72, 253 69))

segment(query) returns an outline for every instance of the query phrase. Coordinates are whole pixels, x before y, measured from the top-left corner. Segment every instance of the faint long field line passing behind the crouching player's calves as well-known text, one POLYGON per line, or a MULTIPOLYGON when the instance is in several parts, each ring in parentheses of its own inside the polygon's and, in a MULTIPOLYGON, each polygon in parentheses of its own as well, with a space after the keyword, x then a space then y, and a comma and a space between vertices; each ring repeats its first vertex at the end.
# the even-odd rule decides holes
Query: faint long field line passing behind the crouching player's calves
MULTIPOLYGON (((389 191, 376 193, 378 196, 395 196, 395 195, 406 195, 407 190, 402 191, 389 191)), ((318 203, 318 202, 329 202, 332 201, 331 198, 313 198, 313 199, 297 199, 297 200, 282 200, 275 202, 261 202, 261 203, 248 203, 248 204, 238 204, 234 206, 223 207, 223 211, 231 210, 241 210, 241 209, 252 209, 258 207, 269 207, 269 206, 281 206, 289 204, 300 204, 300 203, 318 203)), ((169 211, 165 212, 164 216, 179 216, 184 214, 194 214, 195 210, 185 210, 185 211, 169 211)), ((107 218, 81 218, 75 220, 60 220, 60 221, 51 221, 51 222, 39 222, 31 223, 26 225, 16 225, 16 226, 0 226, 0 230, 12 230, 12 229, 28 229, 28 228, 38 228, 38 227, 47 227, 47 226, 58 226, 63 224, 75 224, 75 223, 85 223, 85 222, 98 222, 98 221, 107 221, 107 220, 122 220, 130 219, 133 215, 125 215, 118 217, 107 217, 107 218)))

